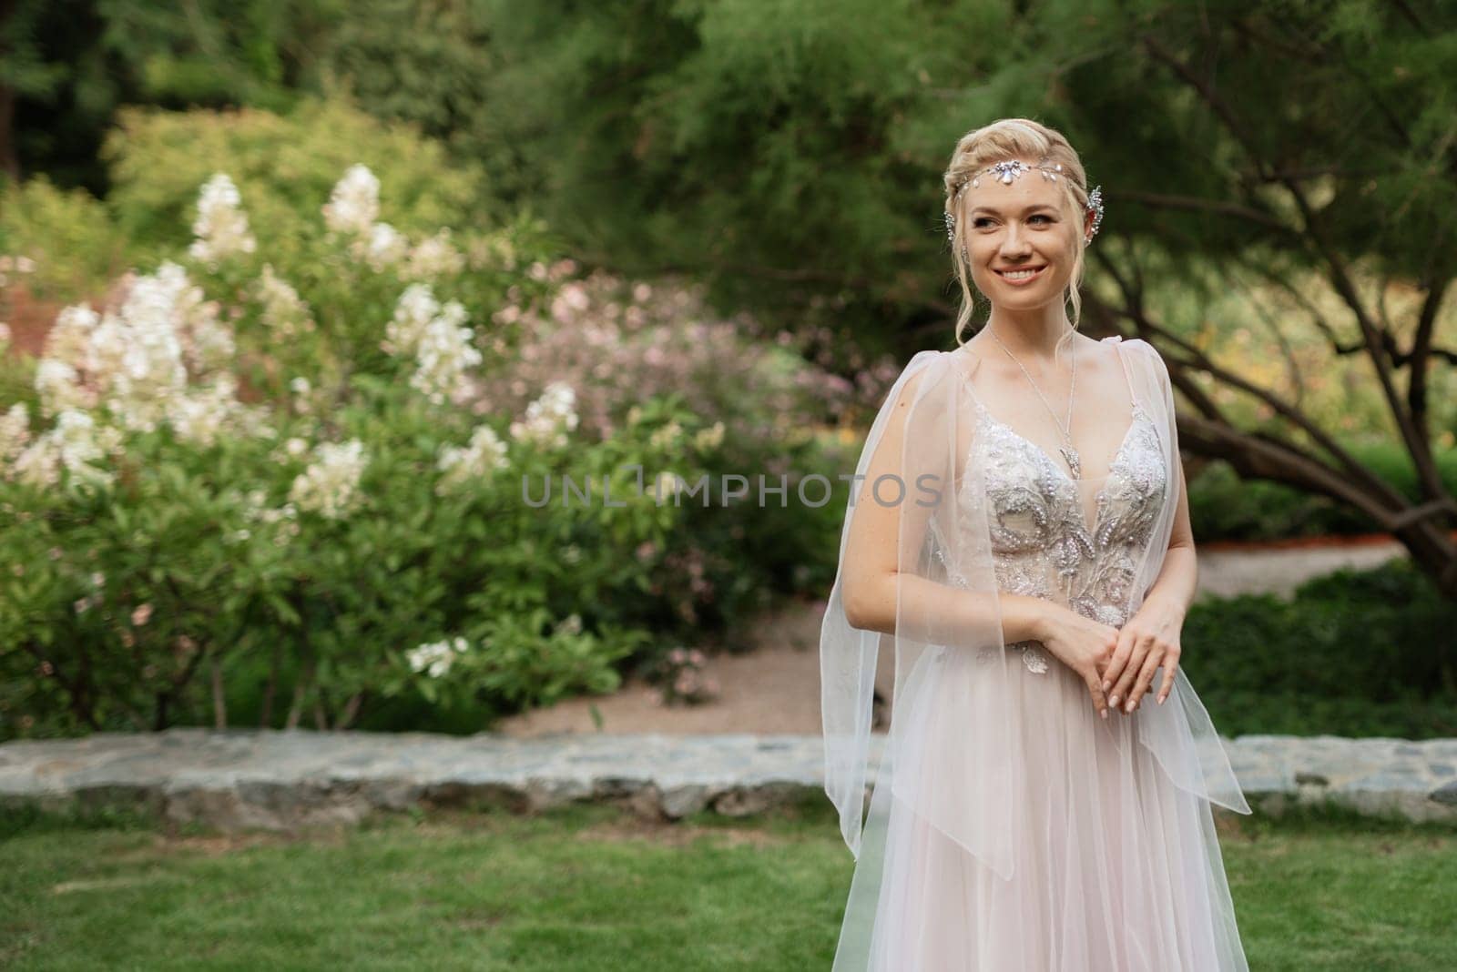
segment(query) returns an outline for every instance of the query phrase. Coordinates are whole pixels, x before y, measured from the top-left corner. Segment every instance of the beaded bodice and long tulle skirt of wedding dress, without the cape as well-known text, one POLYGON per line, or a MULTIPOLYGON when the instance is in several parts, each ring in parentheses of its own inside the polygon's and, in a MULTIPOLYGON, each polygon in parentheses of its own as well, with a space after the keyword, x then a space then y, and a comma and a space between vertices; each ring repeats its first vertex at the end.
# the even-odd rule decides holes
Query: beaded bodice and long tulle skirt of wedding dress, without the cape
MULTIPOLYGON (((1173 493, 1161 416, 1132 380, 1129 391, 1132 423, 1093 482, 1072 480, 972 396, 966 461, 981 479, 959 502, 975 512, 966 528, 989 540, 998 589, 1125 623, 1150 544, 1166 543, 1155 527, 1173 493)), ((947 583, 970 586, 960 563, 944 567, 947 583)), ((1036 642, 930 645, 914 669, 915 688, 898 694, 915 691, 916 704, 898 707, 895 765, 881 770, 900 781, 874 790, 836 971, 1247 971, 1209 799, 1179 755, 1192 749, 1167 742, 1193 739, 1183 712, 1171 714, 1198 707, 1182 674, 1164 706, 1160 671, 1139 710, 1104 720, 1036 642), (994 664, 1001 678, 986 677, 994 664), (969 758, 1000 726, 1005 751, 969 758), (1155 732, 1167 735, 1141 739, 1155 732), (997 770, 989 796, 956 776, 966 765, 982 780, 997 770)), ((1237 790, 1230 802, 1249 812, 1237 790)))

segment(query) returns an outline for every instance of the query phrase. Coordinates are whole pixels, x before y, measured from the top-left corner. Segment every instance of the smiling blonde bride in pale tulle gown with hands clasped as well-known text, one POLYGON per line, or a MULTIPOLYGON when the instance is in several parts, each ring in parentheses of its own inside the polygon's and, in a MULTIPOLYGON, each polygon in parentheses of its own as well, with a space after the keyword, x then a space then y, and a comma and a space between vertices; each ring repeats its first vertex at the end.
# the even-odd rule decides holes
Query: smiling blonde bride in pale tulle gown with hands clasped
POLYGON ((965 135, 946 192, 959 346, 916 354, 876 416, 820 636, 855 856, 835 969, 1247 971, 1212 805, 1250 808, 1179 666, 1196 565, 1169 373, 1077 330, 1100 194, 1027 119, 965 135), (972 285, 991 313, 962 342, 972 285))

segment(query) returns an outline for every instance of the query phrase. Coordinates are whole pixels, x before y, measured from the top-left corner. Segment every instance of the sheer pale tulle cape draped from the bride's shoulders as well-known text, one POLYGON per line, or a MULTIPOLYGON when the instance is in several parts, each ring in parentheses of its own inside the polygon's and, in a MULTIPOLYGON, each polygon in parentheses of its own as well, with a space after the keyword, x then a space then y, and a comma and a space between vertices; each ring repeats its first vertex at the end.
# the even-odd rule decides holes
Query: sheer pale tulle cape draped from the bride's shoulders
MULTIPOLYGON (((1167 368, 1145 340, 1123 340, 1120 351, 1134 397, 1157 428, 1167 483, 1152 537, 1128 591, 1126 616, 1132 617, 1163 569, 1177 508, 1174 490, 1182 489, 1183 479, 1167 368)), ((889 787, 887 797, 1002 879, 1011 879, 1014 870, 1007 835, 1026 809, 1020 806, 1026 790, 1017 726, 1008 717, 988 717, 991 712, 1008 712, 986 700, 1005 691, 1008 666, 1021 661, 1016 650, 1004 648, 982 470, 966 461, 981 406, 969 358, 965 345, 950 352, 922 351, 886 396, 855 467, 839 569, 820 633, 825 790, 858 861, 849 914, 864 911, 867 924, 874 902, 857 902, 857 892, 864 898, 879 886, 884 837, 876 832, 874 810, 863 824, 867 780, 876 780, 877 800, 889 787), (842 583, 860 485, 892 422, 905 423, 899 461, 903 499, 896 505, 895 634, 881 634, 849 624, 842 583), (918 589, 925 588, 915 585, 927 582, 951 586, 965 598, 954 618, 922 607, 925 598, 918 597, 918 589), (889 738, 884 746, 873 748, 871 709, 881 648, 895 659, 895 681, 889 738), (973 674, 959 687, 963 690, 951 693, 956 703, 946 704, 947 693, 941 693, 941 704, 925 706, 934 678, 944 671, 934 662, 947 652, 972 652, 979 664, 957 666, 973 674), (883 755, 876 758, 876 749, 883 755)), ((883 483, 877 502, 889 505, 895 499, 896 485, 883 483)), ((1163 671, 1155 688, 1161 680, 1163 671)), ((1099 723, 1099 732, 1110 733, 1120 752, 1145 746, 1179 789, 1238 813, 1250 812, 1220 736, 1182 669, 1164 704, 1152 704, 1150 697, 1135 713, 1110 713, 1099 723)), ((879 825, 883 829, 883 816, 879 825)))

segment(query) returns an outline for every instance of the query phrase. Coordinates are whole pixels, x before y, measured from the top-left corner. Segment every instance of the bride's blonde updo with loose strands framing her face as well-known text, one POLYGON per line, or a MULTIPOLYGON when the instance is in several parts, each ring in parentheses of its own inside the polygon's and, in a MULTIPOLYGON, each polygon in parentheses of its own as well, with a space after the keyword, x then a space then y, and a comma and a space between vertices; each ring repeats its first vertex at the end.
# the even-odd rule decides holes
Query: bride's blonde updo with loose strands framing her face
MULTIPOLYGON (((975 310, 972 268, 962 258, 965 247, 963 234, 966 233, 966 194, 957 194, 957 188, 982 169, 1013 159, 1023 159, 1029 163, 1045 160, 1049 166, 1062 164, 1062 178, 1058 179, 1058 183, 1062 186, 1065 210, 1072 215, 1074 226, 1078 227, 1075 237, 1077 255, 1072 259, 1072 278, 1068 281, 1068 294, 1064 298, 1064 303, 1072 303, 1069 317, 1074 330, 1077 330, 1078 319, 1083 313, 1083 297, 1078 288, 1083 284, 1083 250, 1087 247, 1083 234, 1083 218, 1084 212, 1087 212, 1088 201, 1087 175, 1083 172, 1083 162, 1062 132, 1030 118, 1001 118, 991 125, 983 125, 962 135, 956 143, 956 151, 951 153, 951 163, 946 167, 946 211, 956 220, 956 236, 951 240, 951 260, 956 268, 956 279, 962 284, 962 307, 956 314, 957 345, 965 343, 962 332, 970 323, 972 311, 975 310)), ((1071 332, 1068 338, 1071 339, 1071 332)))

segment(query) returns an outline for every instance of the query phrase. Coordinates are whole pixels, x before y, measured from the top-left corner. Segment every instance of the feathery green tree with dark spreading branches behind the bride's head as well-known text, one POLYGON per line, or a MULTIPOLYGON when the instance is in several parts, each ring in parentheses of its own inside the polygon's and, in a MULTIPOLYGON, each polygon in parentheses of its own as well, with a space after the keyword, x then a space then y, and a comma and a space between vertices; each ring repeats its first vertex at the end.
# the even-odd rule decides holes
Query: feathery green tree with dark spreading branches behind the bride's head
POLYGON ((1454 422, 1432 389, 1454 389, 1457 361, 1441 340, 1457 271, 1453 7, 481 9, 491 138, 580 253, 688 271, 721 300, 902 351, 950 333, 940 172, 956 138, 1005 115, 1061 128, 1116 214, 1084 313, 1160 346, 1190 403, 1185 444, 1361 511, 1457 597, 1457 503, 1432 458, 1454 422), (1288 351, 1266 384, 1206 352, 1205 308, 1254 285, 1287 298, 1243 307, 1288 351), (1418 495, 1307 410, 1297 332, 1374 377, 1418 495))

